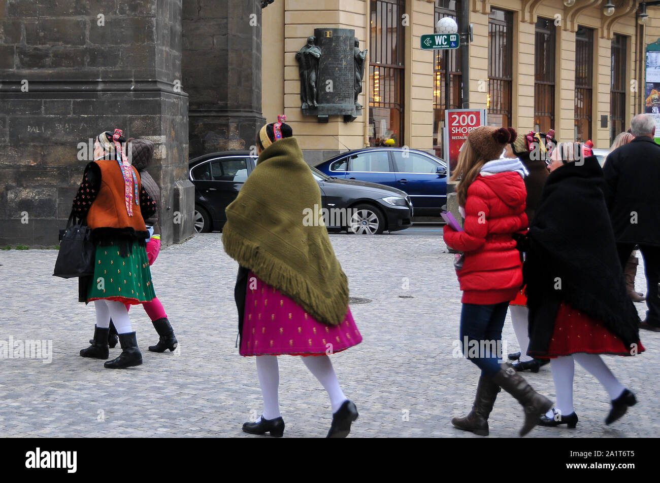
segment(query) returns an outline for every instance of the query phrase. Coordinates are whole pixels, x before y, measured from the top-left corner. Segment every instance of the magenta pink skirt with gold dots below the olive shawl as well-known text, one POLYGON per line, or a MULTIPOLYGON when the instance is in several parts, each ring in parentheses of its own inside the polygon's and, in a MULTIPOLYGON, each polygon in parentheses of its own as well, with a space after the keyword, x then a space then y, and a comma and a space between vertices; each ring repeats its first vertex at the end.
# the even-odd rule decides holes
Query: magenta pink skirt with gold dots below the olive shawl
POLYGON ((329 326, 254 273, 248 280, 240 355, 331 355, 362 342, 350 308, 339 326, 329 326))

